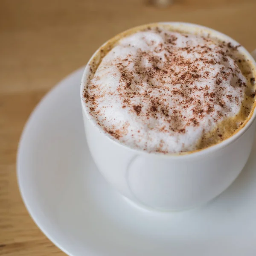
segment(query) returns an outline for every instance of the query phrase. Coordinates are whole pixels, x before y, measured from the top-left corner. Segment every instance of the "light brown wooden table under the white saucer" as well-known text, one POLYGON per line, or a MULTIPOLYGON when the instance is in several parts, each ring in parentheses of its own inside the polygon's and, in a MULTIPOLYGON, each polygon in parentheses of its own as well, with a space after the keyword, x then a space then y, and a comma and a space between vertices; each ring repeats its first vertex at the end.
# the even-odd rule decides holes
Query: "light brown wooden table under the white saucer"
POLYGON ((19 137, 35 105, 113 35, 143 23, 186 21, 256 48, 255 0, 0 0, 0 255, 65 255, 29 217, 16 179, 19 137))

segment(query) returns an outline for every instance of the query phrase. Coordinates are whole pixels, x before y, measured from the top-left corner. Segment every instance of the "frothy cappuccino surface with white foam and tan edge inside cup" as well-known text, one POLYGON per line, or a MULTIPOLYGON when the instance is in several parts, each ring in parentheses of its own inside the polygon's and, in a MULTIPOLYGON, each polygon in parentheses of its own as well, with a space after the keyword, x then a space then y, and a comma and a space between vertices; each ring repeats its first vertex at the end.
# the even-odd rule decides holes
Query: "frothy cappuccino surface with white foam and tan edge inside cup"
POLYGON ((110 41, 90 63, 84 102, 131 148, 177 153, 232 136, 250 114, 253 70, 240 45, 150 26, 110 41))

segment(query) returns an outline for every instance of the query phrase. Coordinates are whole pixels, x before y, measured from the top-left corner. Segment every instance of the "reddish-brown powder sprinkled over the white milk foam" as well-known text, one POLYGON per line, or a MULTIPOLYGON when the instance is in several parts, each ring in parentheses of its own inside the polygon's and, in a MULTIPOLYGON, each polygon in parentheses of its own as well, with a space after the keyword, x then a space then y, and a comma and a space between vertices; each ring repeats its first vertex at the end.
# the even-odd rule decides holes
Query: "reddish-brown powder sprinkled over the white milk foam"
MULTIPOLYGON (((162 33, 160 28, 155 31, 162 33)), ((184 37, 187 38, 187 35, 184 37)), ((226 103, 220 97, 224 90, 221 84, 230 76, 236 78, 236 73, 239 71, 239 67, 226 67, 228 71, 222 70, 215 74, 218 92, 212 91, 212 88, 207 84, 197 86, 195 82, 212 79, 214 66, 234 58, 233 51, 237 51, 239 46, 222 42, 216 49, 212 46, 199 45, 175 48, 176 41, 177 37, 166 34, 166 44, 157 45, 151 42, 155 46, 151 52, 139 49, 137 56, 129 56, 129 59, 120 58, 116 64, 118 72, 121 74, 119 87, 116 92, 112 92, 116 97, 122 99, 122 108, 135 112, 137 116, 145 115, 147 119, 163 119, 169 122, 169 128, 161 128, 162 132, 168 134, 172 134, 172 132, 184 134, 187 126, 198 126, 199 121, 205 115, 212 115, 215 112, 215 105, 227 108, 226 103), (197 58, 186 58, 184 57, 185 52, 196 55, 197 58), (163 53, 162 57, 156 55, 159 53, 163 53), (221 54, 221 58, 215 57, 215 53, 221 54), (150 65, 142 65, 143 61, 147 61, 150 65), (134 64, 133 70, 129 68, 131 63, 134 64), (148 84, 148 87, 145 87, 145 84, 148 84), (175 101, 178 96, 179 100, 174 101, 174 104, 171 105, 166 95, 169 98, 175 98, 175 101), (204 98, 209 102, 201 101, 198 95, 204 95, 204 98), (140 104, 138 104, 137 99, 140 99, 140 104), (182 105, 183 109, 191 109, 191 116, 183 116, 183 112, 175 105, 182 105), (183 120, 186 120, 185 126, 183 120)), ((210 39, 207 38, 207 42, 209 41, 210 39)), ((241 59, 237 59, 237 62, 241 63, 241 59)), ((251 79, 251 82, 253 81, 251 79)), ((240 87, 246 86, 241 79, 237 79, 236 83, 240 87)), ((90 87, 93 87, 93 83, 90 84, 90 87)), ((97 97, 98 95, 90 96, 87 91, 84 91, 85 101, 93 105, 92 112, 97 110, 97 97)), ((233 100, 232 95, 226 95, 226 98, 229 101, 233 100)), ((219 118, 222 115, 221 112, 218 112, 219 118)), ((215 119, 215 122, 218 122, 218 118, 215 119)), ((105 129, 105 131, 117 140, 123 136, 123 131, 119 129, 105 129)))

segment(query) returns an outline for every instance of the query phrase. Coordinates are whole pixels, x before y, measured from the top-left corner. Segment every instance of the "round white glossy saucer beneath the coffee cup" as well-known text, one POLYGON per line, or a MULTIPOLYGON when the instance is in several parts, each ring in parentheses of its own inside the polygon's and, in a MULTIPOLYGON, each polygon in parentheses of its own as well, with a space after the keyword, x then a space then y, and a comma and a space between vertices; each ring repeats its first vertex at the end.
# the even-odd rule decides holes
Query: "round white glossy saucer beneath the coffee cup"
POLYGON ((90 156, 81 75, 82 69, 48 93, 20 140, 20 192, 45 235, 72 256, 256 255, 256 145, 235 183, 204 207, 137 208, 105 182, 90 156))

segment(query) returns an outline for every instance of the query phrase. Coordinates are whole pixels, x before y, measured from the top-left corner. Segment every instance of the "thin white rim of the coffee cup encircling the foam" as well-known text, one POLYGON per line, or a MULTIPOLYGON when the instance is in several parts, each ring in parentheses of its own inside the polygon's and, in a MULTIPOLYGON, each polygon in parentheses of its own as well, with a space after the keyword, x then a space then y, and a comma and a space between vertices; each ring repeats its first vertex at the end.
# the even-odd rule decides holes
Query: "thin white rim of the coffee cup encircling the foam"
MULTIPOLYGON (((129 32, 131 30, 134 29, 139 29, 140 27, 145 27, 145 26, 152 26, 152 25, 171 25, 171 26, 186 26, 186 27, 194 27, 194 28, 198 28, 198 29, 202 29, 205 32, 209 31, 214 33, 214 35, 218 35, 220 38, 225 38, 228 41, 234 43, 234 44, 239 44, 236 40, 234 40, 233 38, 229 37, 228 35, 225 35, 222 32, 219 32, 215 29, 211 29, 207 26, 202 26, 202 25, 198 25, 195 23, 187 23, 187 22, 154 22, 154 23, 147 23, 147 24, 143 24, 140 26, 135 26, 132 27, 130 29, 127 29, 123 32, 120 32, 119 34, 113 36, 112 38, 110 38, 108 41, 106 41, 104 44, 102 44, 92 55, 92 57, 90 58, 90 60, 87 62, 82 78, 81 78, 81 85, 80 85, 80 99, 81 99, 81 105, 82 105, 82 111, 84 112, 87 120, 93 125, 94 128, 98 129, 98 131, 100 133, 102 133, 105 137, 107 137, 109 140, 111 140, 112 143, 115 143, 116 145, 120 146, 120 147, 124 147, 130 151, 133 151, 134 153, 137 154, 145 154, 145 155, 150 155, 150 156, 157 156, 157 157, 164 157, 164 158, 179 158, 179 159, 185 159, 185 158, 190 158, 190 157, 199 157, 202 156, 204 154, 207 153, 212 153, 213 151, 218 151, 224 147, 226 147, 227 145, 232 144, 233 142, 235 142, 236 140, 238 140, 249 128, 250 126, 253 124, 253 121, 256 119, 256 100, 253 103, 253 109, 251 110, 249 116, 247 117, 246 121, 244 122, 244 124, 242 125, 242 127, 240 127, 237 131, 234 132, 233 135, 231 135, 230 137, 228 137, 227 139, 216 143, 214 145, 210 145, 206 148, 201 148, 201 149, 197 149, 197 150, 193 150, 193 151, 186 151, 186 152, 177 152, 177 153, 163 153, 163 152, 148 152, 145 151, 143 149, 139 149, 139 148, 131 148, 130 146, 126 145, 125 143, 121 143, 118 140, 113 139, 109 134, 105 133, 103 131, 103 129, 101 128, 100 125, 98 125, 95 121, 95 119, 90 117, 90 111, 88 110, 88 107, 86 105, 86 103, 84 102, 84 85, 87 82, 87 76, 89 74, 90 71, 90 67, 89 64, 92 62, 93 58, 96 56, 96 54, 99 52, 100 49, 102 49, 102 47, 104 47, 106 44, 108 44, 109 41, 111 41, 113 38, 119 36, 120 34, 123 34, 125 32, 129 32)), ((245 49, 243 46, 240 47, 240 49, 242 49, 242 52, 246 55, 246 57, 249 59, 249 61, 252 62, 253 66, 256 67, 256 60, 252 57, 252 55, 250 54, 250 52, 247 51, 247 49, 245 49)), ((256 71, 255 71, 256 72, 256 71)))

